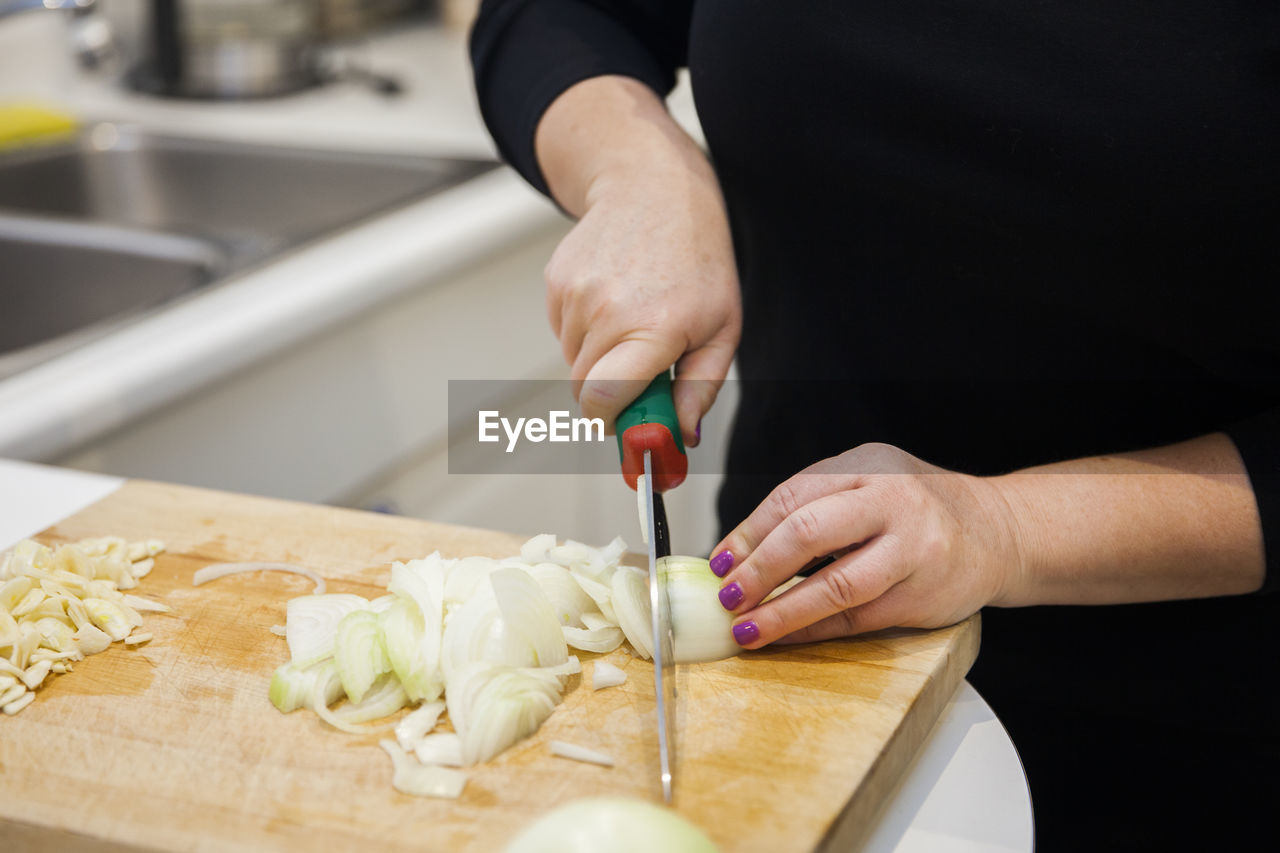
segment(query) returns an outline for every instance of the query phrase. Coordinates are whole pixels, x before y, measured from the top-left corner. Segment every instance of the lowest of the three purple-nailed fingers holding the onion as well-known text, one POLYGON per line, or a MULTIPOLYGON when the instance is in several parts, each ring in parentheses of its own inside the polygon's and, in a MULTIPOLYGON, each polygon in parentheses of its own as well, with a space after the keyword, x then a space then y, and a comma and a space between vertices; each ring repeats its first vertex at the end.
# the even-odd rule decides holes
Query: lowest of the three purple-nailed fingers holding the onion
POLYGON ((837 560, 777 598, 742 612, 733 628, 735 639, 748 639, 748 648, 759 648, 828 619, 836 625, 852 619, 842 613, 877 601, 904 579, 906 573, 892 555, 891 548, 870 543, 837 560), (742 628, 748 624, 754 628, 742 628))

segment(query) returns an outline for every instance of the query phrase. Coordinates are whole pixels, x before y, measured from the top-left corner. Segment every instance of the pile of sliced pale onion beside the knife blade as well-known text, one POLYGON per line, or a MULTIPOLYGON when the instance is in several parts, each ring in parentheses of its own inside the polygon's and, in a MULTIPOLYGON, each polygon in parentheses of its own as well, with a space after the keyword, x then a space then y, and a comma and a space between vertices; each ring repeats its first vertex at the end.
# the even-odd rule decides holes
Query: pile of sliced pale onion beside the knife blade
MULTIPOLYGON (((397 786, 456 795, 465 776, 420 771, 488 761, 536 731, 561 702, 566 679, 581 671, 570 646, 609 652, 627 639, 637 656, 649 656, 648 579, 621 565, 625 551, 621 538, 590 548, 573 540, 556 544, 544 534, 503 560, 445 560, 435 552, 396 562, 388 594, 374 601, 344 594, 291 599, 291 662, 273 676, 271 702, 280 711, 310 707, 353 734, 372 730, 356 724, 421 703, 394 726, 396 740, 384 742, 397 763, 397 786), (334 706, 343 694, 348 702, 334 706), (435 731, 442 711, 452 733, 435 731)), ((724 625, 721 639, 732 643, 717 597, 719 579, 707 561, 692 561, 701 574, 668 562, 660 565, 668 574, 677 661, 686 649, 678 640, 682 622, 675 620, 705 619, 698 607, 714 607, 724 625)), ((23 598, 28 590, 9 592, 23 598)), ((698 639, 696 629, 691 635, 703 647, 690 654, 708 654, 709 642, 698 639)), ((595 663, 593 676, 595 689, 626 680, 605 661, 595 663)), ((580 761, 612 763, 573 744, 554 748, 580 761)))

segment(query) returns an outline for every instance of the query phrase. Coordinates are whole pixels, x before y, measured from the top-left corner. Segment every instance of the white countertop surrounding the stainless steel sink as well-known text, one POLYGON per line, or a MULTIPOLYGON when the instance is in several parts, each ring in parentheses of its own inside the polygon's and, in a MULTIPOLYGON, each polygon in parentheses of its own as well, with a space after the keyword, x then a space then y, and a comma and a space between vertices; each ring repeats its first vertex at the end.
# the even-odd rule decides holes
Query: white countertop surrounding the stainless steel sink
MULTIPOLYGON (((430 27, 374 40, 369 61, 406 93, 356 85, 233 104, 160 100, 78 72, 63 20, 0 22, 0 101, 38 100, 86 122, 273 145, 492 158, 463 36, 430 27)), ((511 170, 376 216, 0 382, 0 452, 54 460, 361 311, 447 278, 563 219, 511 170)))

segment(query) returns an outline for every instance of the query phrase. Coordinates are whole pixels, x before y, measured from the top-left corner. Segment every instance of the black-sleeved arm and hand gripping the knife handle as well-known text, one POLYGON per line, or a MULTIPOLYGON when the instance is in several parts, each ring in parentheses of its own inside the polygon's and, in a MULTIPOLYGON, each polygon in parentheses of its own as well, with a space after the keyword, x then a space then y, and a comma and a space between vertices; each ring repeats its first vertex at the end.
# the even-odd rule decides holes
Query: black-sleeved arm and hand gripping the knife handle
POLYGON ((547 268, 548 314, 588 416, 676 365, 685 442, 728 371, 741 300, 707 158, 659 92, 690 0, 486 0, 472 31, 481 111, 504 158, 580 222, 547 268))

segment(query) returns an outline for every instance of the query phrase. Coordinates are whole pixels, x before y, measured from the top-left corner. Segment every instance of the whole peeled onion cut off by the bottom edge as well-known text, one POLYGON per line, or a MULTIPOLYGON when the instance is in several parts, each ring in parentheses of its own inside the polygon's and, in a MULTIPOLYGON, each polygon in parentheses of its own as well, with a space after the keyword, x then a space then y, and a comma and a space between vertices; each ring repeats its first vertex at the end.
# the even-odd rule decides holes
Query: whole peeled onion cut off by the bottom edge
POLYGON ((716 853, 696 826, 669 808, 641 799, 580 799, 544 815, 504 853, 716 853))

